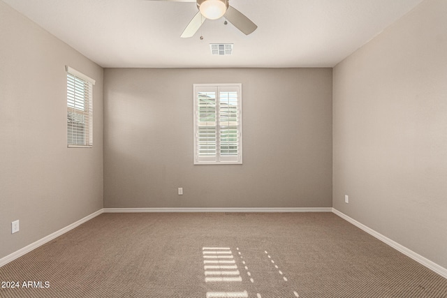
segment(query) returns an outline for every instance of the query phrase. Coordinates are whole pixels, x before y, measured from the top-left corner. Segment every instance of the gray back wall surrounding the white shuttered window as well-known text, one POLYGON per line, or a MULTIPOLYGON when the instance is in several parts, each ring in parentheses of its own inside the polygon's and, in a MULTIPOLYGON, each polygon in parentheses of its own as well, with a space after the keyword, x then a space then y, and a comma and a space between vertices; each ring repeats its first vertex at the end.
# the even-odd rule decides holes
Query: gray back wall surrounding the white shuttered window
POLYGON ((104 84, 104 207, 331 207, 332 69, 105 69, 104 84), (193 165, 193 83, 238 82, 243 165, 193 165))

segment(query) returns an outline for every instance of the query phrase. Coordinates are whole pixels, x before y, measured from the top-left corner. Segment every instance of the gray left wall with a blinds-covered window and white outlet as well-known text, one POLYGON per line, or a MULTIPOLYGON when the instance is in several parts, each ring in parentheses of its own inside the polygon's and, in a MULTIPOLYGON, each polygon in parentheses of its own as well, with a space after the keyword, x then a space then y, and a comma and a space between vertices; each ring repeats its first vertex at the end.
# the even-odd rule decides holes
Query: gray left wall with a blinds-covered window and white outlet
POLYGON ((101 67, 0 1, 0 258, 103 207, 102 92, 101 67), (66 65, 96 79, 92 149, 67 149, 66 65))

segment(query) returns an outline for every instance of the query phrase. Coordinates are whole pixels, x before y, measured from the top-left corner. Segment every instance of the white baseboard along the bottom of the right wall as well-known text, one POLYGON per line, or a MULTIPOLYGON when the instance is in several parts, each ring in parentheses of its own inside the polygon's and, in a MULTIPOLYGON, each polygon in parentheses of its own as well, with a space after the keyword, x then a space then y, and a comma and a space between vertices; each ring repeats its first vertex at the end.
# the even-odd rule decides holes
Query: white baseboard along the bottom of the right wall
POLYGON ((373 237, 376 237, 380 241, 382 241, 385 244, 388 244, 389 246, 395 248, 395 250, 400 251, 404 255, 406 255, 409 258, 412 258, 416 262, 419 262, 421 265, 424 265, 428 269, 436 272, 440 276, 443 276, 444 278, 447 278, 447 269, 444 267, 441 267, 440 265, 437 265, 435 262, 432 262, 428 260, 427 258, 424 258, 422 255, 419 255, 418 253, 415 253, 414 251, 411 251, 409 248, 406 248, 405 246, 398 244, 396 241, 391 240, 390 238, 383 236, 383 234, 380 234, 379 232, 376 232, 372 230, 372 228, 368 228, 366 225, 363 225, 362 223, 359 223, 355 219, 347 216, 346 214, 338 211, 335 208, 332 208, 332 212, 337 214, 337 216, 340 216, 344 220, 348 221, 349 223, 352 223, 357 228, 360 228, 361 230, 364 230, 368 234, 371 234, 373 237))

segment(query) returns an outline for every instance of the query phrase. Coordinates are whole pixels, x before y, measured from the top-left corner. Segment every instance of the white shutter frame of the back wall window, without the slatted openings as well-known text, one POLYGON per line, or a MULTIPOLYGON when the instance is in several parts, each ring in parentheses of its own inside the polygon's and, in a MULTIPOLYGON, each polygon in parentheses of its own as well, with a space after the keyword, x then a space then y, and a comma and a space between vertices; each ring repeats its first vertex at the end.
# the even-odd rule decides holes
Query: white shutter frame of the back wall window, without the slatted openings
MULTIPOLYGON (((228 101, 230 100, 227 98, 228 101)), ((230 112, 228 110, 227 112, 230 112)), ((242 165, 242 84, 193 84, 193 164, 194 165, 242 165), (199 156, 198 154, 198 93, 199 92, 215 92, 215 124, 209 127, 215 128, 215 148, 216 152, 212 156, 199 156), (237 92, 237 120, 235 121, 237 129, 237 155, 236 156, 224 156, 221 147, 221 130, 223 128, 221 119, 221 92, 237 92)), ((231 128, 227 129, 230 130, 231 128)), ((228 149, 229 154, 230 149, 228 149)))

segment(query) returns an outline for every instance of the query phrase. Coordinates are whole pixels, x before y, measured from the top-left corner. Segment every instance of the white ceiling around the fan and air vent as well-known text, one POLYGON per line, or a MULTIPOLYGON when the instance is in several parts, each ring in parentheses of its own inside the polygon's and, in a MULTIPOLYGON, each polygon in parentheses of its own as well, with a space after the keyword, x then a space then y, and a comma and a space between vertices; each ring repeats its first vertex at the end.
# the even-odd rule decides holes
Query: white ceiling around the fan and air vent
POLYGON ((422 0, 230 0, 258 29, 207 20, 193 38, 179 36, 195 3, 3 1, 105 68, 202 68, 332 67, 422 0), (210 43, 234 43, 233 55, 210 43))

